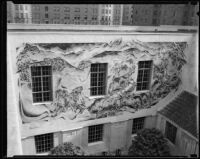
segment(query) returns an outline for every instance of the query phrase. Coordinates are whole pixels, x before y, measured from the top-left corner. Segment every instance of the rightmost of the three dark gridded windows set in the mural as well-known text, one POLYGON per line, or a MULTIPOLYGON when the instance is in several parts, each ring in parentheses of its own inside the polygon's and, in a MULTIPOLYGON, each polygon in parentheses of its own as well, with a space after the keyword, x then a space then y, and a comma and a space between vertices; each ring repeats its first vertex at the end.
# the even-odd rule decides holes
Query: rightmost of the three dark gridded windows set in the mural
POLYGON ((152 61, 139 61, 137 91, 149 89, 151 69, 152 69, 152 61))

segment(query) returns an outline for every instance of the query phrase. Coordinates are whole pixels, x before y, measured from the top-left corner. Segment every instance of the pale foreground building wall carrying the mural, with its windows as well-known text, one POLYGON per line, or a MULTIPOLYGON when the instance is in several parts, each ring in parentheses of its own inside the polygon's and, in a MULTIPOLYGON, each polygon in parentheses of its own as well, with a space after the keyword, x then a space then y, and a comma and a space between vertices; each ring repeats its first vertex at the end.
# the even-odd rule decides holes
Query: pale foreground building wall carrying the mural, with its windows
POLYGON ((195 92, 197 33, 66 27, 8 26, 10 156, 66 141, 89 155, 127 154, 171 96, 195 92))

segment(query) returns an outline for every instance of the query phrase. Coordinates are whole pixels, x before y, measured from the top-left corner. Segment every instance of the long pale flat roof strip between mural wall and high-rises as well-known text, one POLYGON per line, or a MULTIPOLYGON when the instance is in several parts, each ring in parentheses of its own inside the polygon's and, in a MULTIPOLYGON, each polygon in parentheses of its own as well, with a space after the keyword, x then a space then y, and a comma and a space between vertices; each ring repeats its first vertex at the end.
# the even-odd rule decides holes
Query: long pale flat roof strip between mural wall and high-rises
POLYGON ((109 31, 109 32, 197 32, 198 26, 122 26, 73 24, 8 24, 7 31, 109 31))

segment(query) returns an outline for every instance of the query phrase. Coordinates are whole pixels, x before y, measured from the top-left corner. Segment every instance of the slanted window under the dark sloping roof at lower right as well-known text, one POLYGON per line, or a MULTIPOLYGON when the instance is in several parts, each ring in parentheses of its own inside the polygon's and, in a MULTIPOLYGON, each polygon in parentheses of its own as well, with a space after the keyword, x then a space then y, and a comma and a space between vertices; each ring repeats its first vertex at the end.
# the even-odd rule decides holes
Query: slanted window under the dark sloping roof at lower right
POLYGON ((164 134, 165 134, 166 139, 174 145, 176 144, 177 132, 178 132, 178 128, 174 124, 172 124, 171 122, 166 120, 164 134), (171 128, 167 127, 167 125, 170 126, 171 128), (172 129, 174 129, 174 128, 175 128, 175 134, 174 134, 174 130, 173 130, 173 134, 172 134, 172 129), (170 135, 173 135, 173 137, 172 137, 172 138, 174 138, 173 141, 171 140, 171 136, 169 137, 169 132, 170 132, 170 135))

